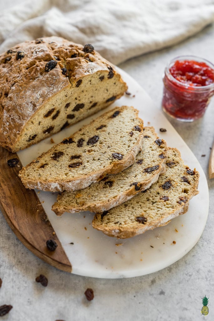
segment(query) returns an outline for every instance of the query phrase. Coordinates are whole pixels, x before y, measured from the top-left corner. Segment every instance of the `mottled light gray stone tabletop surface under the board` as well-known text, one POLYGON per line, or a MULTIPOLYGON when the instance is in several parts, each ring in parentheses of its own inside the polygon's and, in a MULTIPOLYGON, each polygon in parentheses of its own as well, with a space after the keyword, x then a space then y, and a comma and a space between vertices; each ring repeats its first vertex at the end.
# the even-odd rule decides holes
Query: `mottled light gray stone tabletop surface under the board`
MULTIPOLYGON (((167 61, 182 54, 214 59, 214 26, 173 48, 131 59, 120 65, 156 101, 162 98, 167 61)), ((192 149, 208 178, 214 138, 214 98, 203 119, 182 123, 169 119, 192 149), (206 154, 205 157, 201 157, 206 154)), ((214 179, 209 180, 210 212, 205 230, 193 249, 175 264, 150 275, 119 280, 81 277, 61 272, 34 256, 16 238, 0 213, 0 305, 12 304, 2 320, 12 321, 192 321, 214 319, 214 179), (48 286, 35 282, 40 273, 48 286), (93 301, 84 291, 92 288, 93 301), (201 297, 210 298, 209 315, 201 316, 201 297)), ((193 226, 194 228, 194 226, 193 226)))

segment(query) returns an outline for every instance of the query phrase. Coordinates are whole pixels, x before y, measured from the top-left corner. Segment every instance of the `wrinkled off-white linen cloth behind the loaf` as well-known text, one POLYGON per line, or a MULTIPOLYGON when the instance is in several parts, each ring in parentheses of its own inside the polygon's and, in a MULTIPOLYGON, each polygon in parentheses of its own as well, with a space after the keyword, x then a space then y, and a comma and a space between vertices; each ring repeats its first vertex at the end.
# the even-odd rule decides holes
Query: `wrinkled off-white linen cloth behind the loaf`
POLYGON ((60 36, 114 64, 174 45, 214 21, 214 0, 28 0, 0 12, 0 53, 60 36))

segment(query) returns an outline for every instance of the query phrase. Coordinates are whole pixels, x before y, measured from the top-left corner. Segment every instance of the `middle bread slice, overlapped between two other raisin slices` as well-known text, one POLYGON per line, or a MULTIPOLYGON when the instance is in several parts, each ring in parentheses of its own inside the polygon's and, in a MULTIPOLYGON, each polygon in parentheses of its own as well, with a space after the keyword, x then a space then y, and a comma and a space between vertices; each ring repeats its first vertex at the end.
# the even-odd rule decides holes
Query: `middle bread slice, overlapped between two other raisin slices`
POLYGON ((153 127, 145 127, 142 151, 134 164, 121 173, 110 174, 101 181, 74 191, 58 195, 52 210, 57 215, 64 212, 103 212, 120 205, 155 183, 165 171, 167 144, 158 139, 153 127))

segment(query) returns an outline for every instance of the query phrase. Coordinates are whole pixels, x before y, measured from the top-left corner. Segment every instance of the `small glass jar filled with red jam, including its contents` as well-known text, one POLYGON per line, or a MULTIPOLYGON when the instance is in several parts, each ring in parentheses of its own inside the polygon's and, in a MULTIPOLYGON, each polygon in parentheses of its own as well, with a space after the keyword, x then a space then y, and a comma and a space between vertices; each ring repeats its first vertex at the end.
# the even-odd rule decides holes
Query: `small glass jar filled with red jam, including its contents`
POLYGON ((214 65, 196 56, 179 56, 167 65, 163 82, 163 110, 190 122, 203 116, 214 94, 214 65))

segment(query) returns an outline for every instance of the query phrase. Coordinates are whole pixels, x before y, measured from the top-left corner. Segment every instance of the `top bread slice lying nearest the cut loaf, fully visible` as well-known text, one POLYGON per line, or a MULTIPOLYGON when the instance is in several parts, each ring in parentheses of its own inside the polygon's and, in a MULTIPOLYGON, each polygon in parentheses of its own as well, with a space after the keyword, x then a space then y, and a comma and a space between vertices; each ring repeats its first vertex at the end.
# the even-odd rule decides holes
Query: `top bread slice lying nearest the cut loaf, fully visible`
POLYGON ((138 110, 116 107, 33 160, 19 176, 28 188, 53 192, 85 188, 132 165, 142 141, 138 110))

